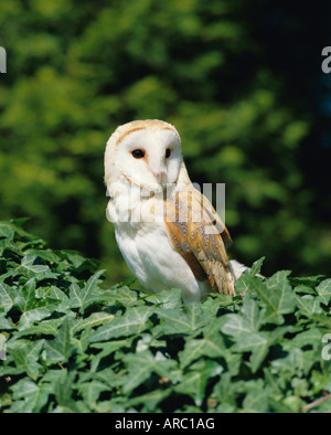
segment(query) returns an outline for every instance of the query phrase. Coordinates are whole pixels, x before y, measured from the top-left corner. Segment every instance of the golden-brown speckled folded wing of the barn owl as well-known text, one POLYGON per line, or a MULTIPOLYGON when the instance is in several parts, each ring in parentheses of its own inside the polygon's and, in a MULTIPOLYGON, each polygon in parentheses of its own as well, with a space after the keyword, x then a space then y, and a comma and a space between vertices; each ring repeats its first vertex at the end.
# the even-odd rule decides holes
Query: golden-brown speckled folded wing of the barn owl
POLYGON ((164 210, 170 241, 195 278, 207 282, 213 293, 234 295, 226 255, 231 237, 210 201, 192 188, 167 198, 164 210))

